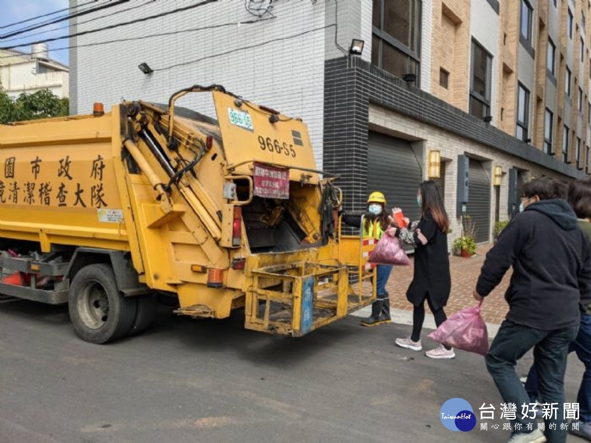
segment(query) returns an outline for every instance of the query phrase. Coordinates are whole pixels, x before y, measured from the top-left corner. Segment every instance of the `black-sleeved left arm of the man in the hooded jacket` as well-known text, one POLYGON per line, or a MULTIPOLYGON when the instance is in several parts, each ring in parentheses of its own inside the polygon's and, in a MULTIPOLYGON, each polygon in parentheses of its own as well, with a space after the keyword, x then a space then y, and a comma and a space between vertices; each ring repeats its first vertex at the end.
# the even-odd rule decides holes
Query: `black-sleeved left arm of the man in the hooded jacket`
MULTIPOLYGON (((505 227, 496 245, 486 254, 476 283, 476 295, 486 297, 501 283, 505 272, 514 262, 528 237, 527 217, 517 217, 505 227)), ((476 298, 476 297, 475 297, 476 298)))

